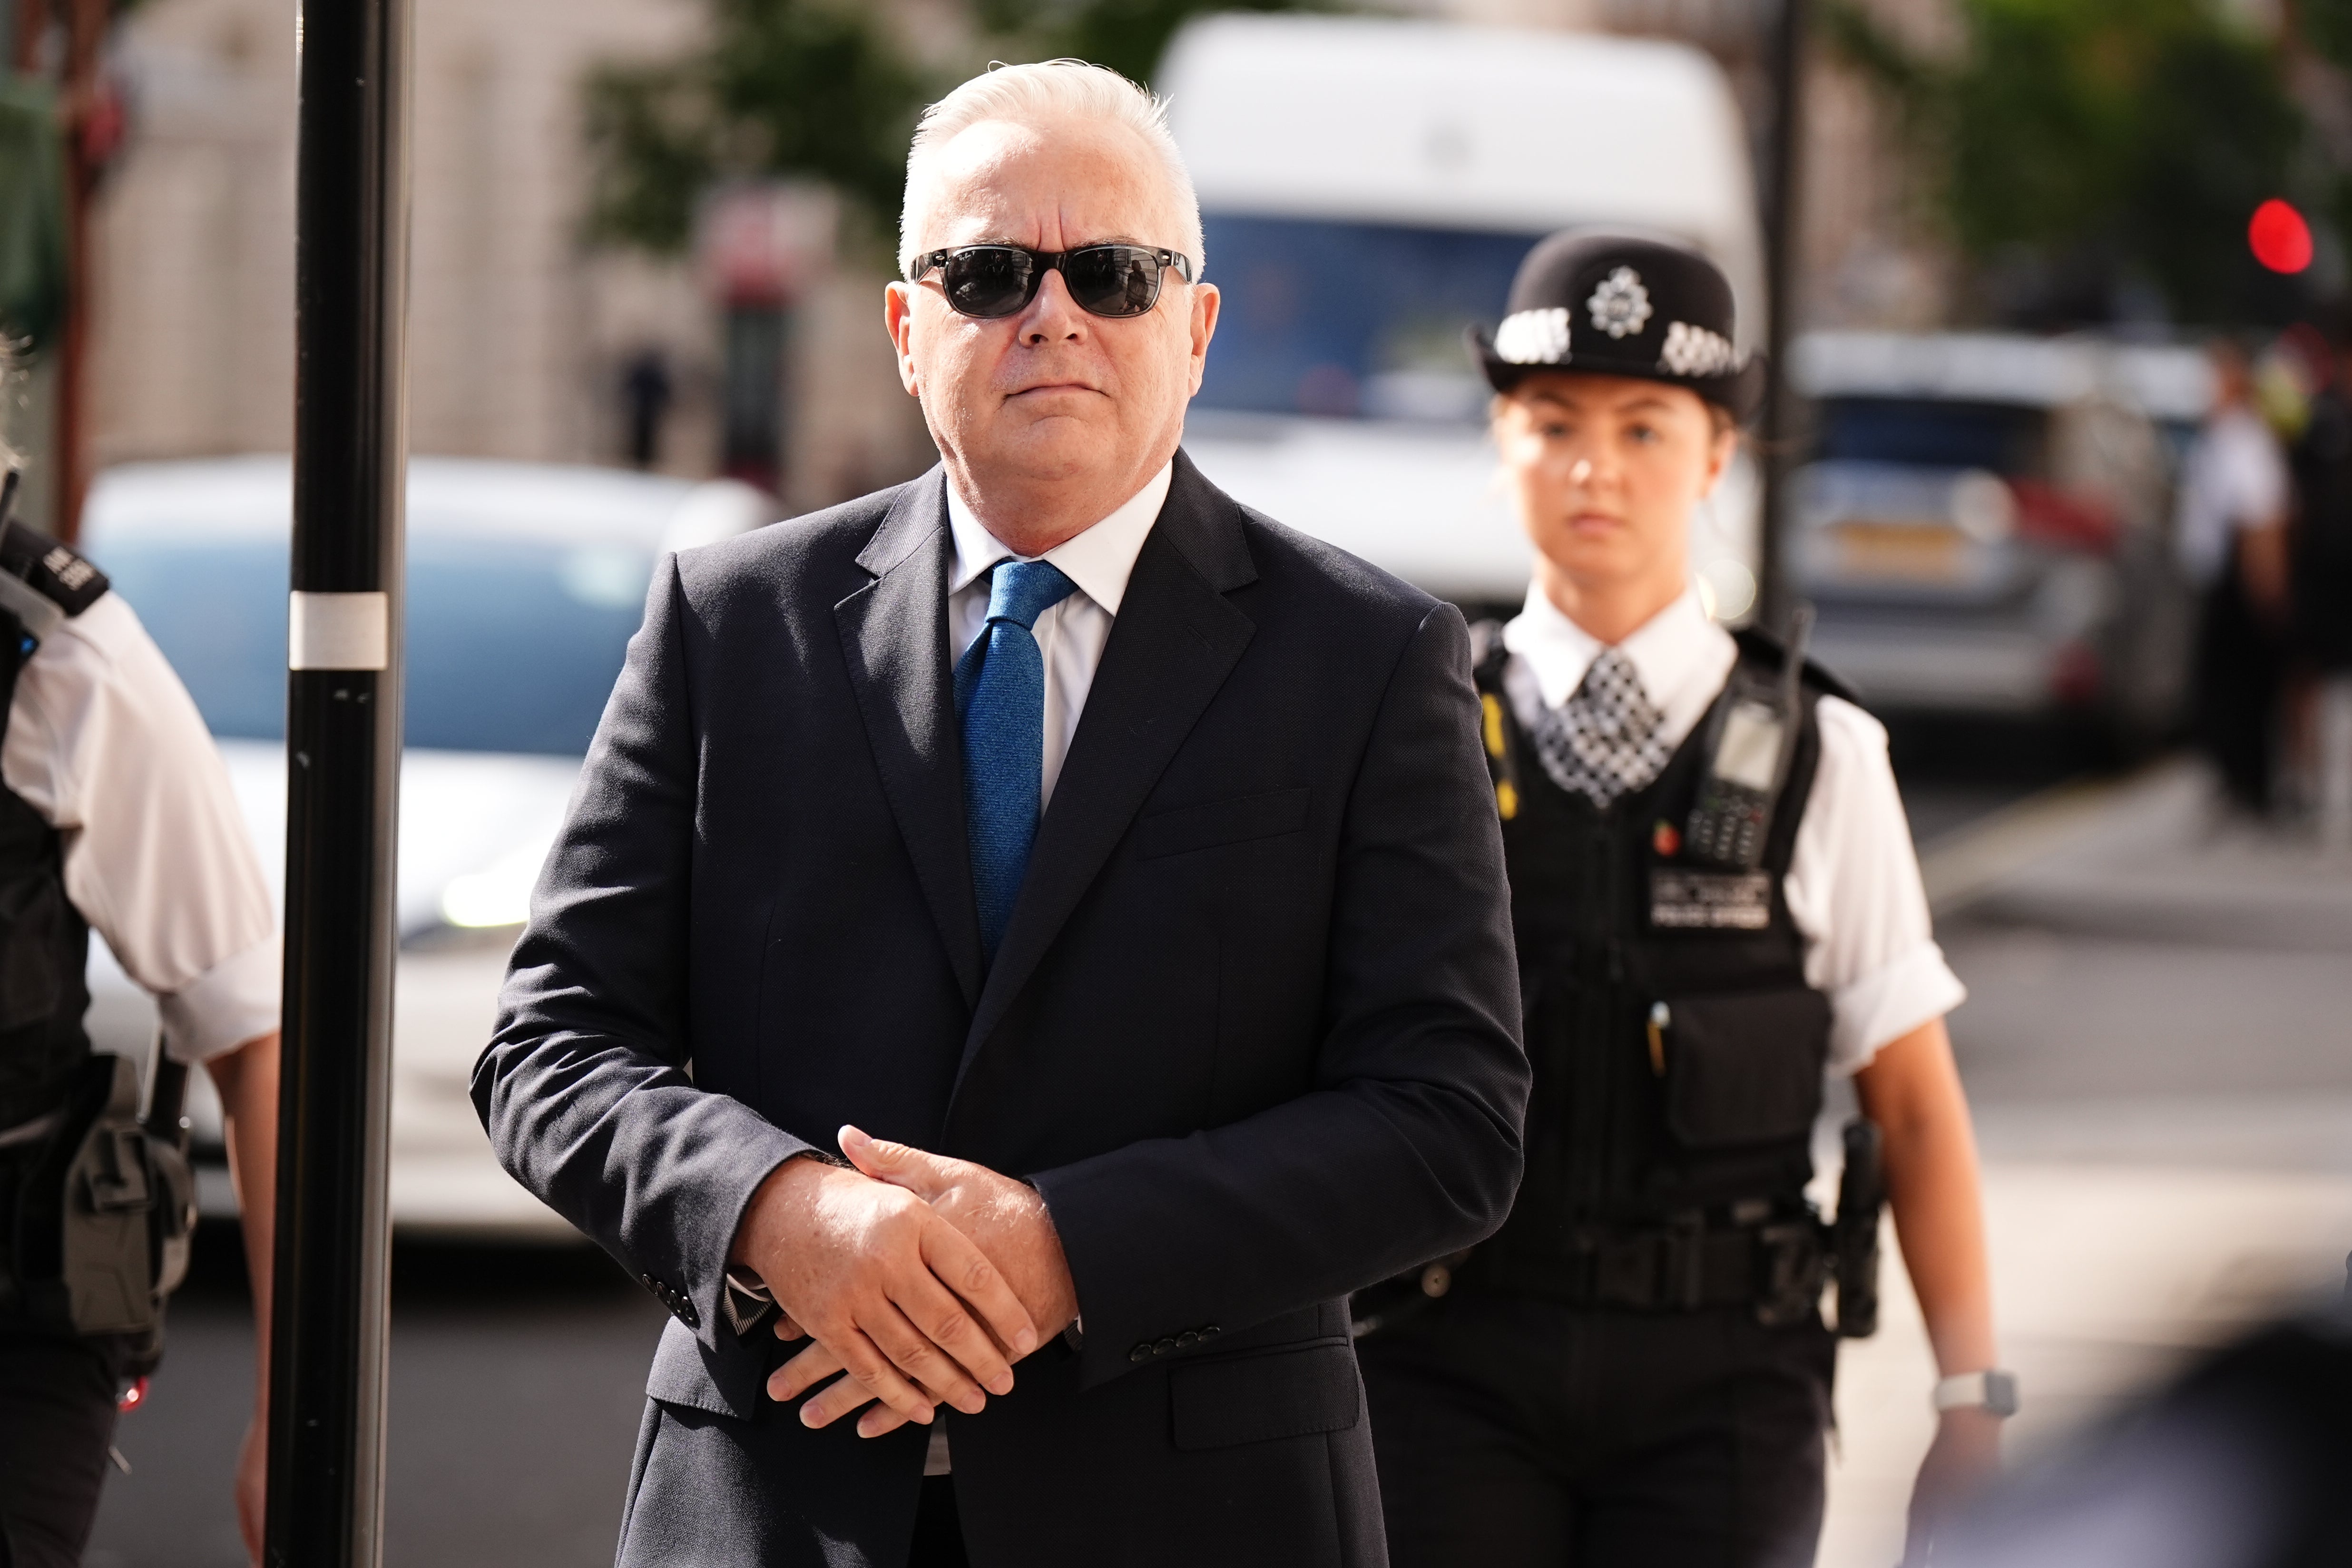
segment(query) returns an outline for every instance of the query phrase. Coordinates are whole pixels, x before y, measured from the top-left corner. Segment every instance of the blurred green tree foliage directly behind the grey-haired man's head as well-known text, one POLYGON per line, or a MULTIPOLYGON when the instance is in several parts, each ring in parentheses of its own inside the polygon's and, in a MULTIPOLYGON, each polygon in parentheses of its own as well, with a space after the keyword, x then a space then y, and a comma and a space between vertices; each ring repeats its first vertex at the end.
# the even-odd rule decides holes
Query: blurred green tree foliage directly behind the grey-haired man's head
MULTIPOLYGON (((1322 2, 974 0, 983 52, 969 68, 1075 56, 1141 82, 1176 28, 1200 12, 1322 2)), ((915 118, 962 73, 938 80, 920 71, 875 7, 856 0, 708 5, 708 49, 588 78, 588 237, 680 252, 703 190, 767 174, 828 181, 870 235, 894 235, 915 118)))

